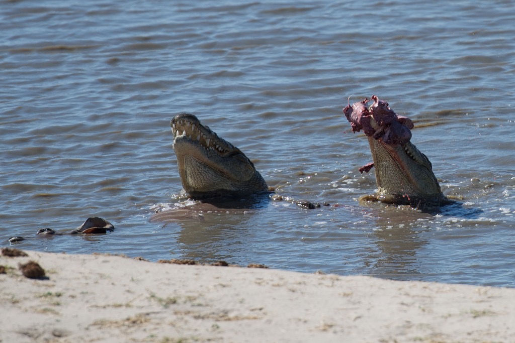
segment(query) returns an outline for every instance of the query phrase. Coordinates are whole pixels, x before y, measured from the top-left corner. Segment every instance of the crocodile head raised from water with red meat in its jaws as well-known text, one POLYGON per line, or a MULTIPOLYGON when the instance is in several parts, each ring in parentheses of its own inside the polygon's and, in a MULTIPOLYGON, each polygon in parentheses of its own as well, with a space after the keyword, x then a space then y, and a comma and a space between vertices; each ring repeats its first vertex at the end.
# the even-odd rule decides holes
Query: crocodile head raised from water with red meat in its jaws
POLYGON ((381 201, 415 208, 438 207, 452 203, 441 191, 433 173, 433 166, 426 155, 411 143, 414 123, 409 118, 397 115, 388 102, 377 96, 370 100, 348 104, 344 108, 352 132, 363 129, 372 153, 373 163, 359 172, 375 172, 377 192, 361 200, 381 201))

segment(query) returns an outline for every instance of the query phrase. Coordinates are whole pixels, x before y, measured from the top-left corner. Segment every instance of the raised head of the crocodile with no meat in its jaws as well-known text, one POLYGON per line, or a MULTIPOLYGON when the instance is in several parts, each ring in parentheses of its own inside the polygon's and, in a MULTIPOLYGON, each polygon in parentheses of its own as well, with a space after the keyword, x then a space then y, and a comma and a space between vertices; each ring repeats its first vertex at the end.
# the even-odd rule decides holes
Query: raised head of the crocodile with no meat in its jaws
POLYGON ((183 192, 196 199, 267 192, 254 164, 192 114, 171 119, 183 192))

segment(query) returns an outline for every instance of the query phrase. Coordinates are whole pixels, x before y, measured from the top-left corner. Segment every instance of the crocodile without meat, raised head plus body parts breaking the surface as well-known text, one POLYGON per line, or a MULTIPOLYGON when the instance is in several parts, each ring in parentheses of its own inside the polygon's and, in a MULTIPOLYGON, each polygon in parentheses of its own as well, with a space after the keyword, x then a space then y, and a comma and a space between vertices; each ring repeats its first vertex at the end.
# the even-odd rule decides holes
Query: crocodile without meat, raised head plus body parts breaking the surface
MULTIPOLYGON (((227 140, 219 137, 209 127, 189 113, 181 113, 170 121, 174 135, 173 148, 182 184, 182 195, 194 203, 183 202, 169 210, 156 209, 151 221, 175 221, 181 219, 201 219, 201 212, 222 210, 239 211, 259 206, 259 195, 267 198, 273 192, 252 161, 227 140), (257 194, 258 197, 247 197, 257 194), (241 198, 245 201, 241 202, 241 198), (234 200, 237 201, 234 201, 234 200)), ((274 201, 286 200, 305 209, 318 208, 327 203, 311 203, 306 200, 293 200, 274 194, 274 201)))

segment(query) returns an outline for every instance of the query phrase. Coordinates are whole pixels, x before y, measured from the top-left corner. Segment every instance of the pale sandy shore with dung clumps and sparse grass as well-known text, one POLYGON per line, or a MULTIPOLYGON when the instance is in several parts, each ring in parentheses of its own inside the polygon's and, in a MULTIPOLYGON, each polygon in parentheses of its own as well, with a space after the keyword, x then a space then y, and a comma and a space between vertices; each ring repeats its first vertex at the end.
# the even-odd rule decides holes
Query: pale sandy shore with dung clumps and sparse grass
POLYGON ((2 342, 515 341, 513 288, 26 252, 0 257, 2 342))

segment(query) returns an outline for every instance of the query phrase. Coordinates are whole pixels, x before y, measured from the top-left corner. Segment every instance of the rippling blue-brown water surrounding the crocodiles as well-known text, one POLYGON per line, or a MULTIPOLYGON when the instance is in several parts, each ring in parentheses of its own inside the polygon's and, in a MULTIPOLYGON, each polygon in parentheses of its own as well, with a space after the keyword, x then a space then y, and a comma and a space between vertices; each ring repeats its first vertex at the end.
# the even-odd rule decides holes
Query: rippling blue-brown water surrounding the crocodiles
POLYGON ((194 258, 397 280, 515 286, 511 2, 4 1, 0 233, 25 249, 194 258), (375 189, 341 109, 372 94, 461 204, 422 213, 375 189), (278 194, 149 222, 180 192, 169 120, 197 115, 278 194), (116 230, 35 238, 98 215, 116 230))

